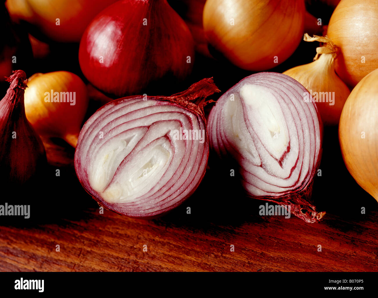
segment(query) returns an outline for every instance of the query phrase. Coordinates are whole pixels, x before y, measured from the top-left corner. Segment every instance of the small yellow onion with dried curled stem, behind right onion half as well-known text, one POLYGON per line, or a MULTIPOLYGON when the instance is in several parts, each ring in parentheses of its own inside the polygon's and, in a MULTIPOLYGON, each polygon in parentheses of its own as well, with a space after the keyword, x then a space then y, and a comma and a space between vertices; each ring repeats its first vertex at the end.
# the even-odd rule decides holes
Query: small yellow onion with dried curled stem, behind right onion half
POLYGON ((342 108, 350 94, 348 86, 335 72, 338 47, 327 37, 305 34, 304 40, 326 42, 327 46, 316 49, 315 61, 291 68, 283 74, 297 80, 310 92, 325 125, 338 125, 342 108))

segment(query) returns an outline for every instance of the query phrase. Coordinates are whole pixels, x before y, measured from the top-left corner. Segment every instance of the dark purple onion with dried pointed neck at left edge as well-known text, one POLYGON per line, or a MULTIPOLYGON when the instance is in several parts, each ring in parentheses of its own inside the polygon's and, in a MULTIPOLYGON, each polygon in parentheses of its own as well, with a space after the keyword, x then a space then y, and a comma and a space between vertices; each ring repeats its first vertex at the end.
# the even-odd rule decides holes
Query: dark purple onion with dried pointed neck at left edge
POLYGON ((46 163, 42 140, 25 116, 26 74, 14 71, 11 85, 0 101, 0 185, 23 186, 46 163))

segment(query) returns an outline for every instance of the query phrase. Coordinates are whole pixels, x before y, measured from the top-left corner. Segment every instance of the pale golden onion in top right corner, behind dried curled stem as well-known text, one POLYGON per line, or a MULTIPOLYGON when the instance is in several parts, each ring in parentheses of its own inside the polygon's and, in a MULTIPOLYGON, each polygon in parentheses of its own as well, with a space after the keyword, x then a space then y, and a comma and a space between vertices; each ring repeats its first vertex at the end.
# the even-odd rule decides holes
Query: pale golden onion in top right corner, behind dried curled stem
POLYGON ((350 87, 378 68, 378 2, 342 0, 330 19, 327 35, 339 46, 336 73, 350 87))

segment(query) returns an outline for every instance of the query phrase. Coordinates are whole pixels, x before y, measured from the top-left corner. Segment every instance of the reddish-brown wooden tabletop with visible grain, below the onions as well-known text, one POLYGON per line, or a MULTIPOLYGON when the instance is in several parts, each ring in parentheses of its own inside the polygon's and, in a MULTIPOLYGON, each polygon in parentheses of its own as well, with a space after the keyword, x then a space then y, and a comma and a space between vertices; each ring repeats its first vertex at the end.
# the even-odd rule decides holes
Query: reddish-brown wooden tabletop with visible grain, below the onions
POLYGON ((240 226, 202 229, 185 219, 193 214, 144 221, 88 208, 82 216, 26 229, 2 227, 0 270, 378 271, 377 229, 371 227, 376 211, 364 223, 333 215, 311 226, 297 218, 251 217, 240 226))

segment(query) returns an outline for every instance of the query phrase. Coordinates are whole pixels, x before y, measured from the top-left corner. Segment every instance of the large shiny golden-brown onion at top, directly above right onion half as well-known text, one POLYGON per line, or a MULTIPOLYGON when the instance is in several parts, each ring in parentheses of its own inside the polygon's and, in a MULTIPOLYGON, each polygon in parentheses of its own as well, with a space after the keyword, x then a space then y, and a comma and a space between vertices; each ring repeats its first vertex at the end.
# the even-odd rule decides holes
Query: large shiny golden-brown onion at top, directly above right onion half
POLYGON ((203 28, 209 43, 234 65, 263 71, 293 54, 302 39, 304 14, 303 0, 208 0, 203 28))

